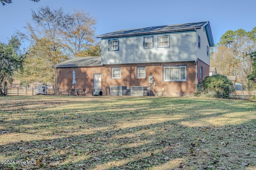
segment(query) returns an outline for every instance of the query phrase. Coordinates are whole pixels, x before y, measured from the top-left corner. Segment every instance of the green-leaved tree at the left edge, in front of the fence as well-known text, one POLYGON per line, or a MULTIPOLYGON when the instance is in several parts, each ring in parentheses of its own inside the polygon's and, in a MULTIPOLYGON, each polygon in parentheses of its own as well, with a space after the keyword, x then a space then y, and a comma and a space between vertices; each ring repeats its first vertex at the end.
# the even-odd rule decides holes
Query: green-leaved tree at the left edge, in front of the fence
POLYGON ((20 53, 20 41, 12 37, 8 44, 0 43, 0 95, 6 94, 7 82, 13 81, 14 70, 22 68, 23 56, 20 53))

